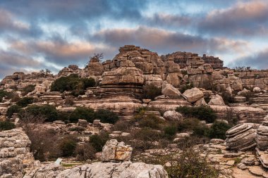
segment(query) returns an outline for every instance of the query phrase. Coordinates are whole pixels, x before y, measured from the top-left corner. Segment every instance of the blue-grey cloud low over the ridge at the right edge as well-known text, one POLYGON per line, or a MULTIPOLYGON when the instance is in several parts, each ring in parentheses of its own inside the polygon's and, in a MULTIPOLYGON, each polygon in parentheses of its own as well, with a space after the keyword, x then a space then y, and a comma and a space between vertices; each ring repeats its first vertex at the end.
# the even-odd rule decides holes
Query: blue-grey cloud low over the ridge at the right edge
POLYGON ((267 69, 268 68, 268 49, 264 49, 252 56, 246 56, 244 58, 239 58, 230 64, 231 67, 236 66, 250 66, 257 69, 267 69))

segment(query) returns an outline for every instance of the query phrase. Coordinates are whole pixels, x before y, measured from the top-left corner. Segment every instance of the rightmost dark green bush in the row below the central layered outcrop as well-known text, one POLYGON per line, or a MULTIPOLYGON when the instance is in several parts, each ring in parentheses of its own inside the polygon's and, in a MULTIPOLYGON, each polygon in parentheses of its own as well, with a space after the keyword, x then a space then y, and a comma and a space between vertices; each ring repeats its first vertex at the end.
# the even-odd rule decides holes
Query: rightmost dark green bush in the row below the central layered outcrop
POLYGON ((118 115, 111 110, 99 109, 95 112, 95 118, 101 122, 114 124, 118 119, 118 115))

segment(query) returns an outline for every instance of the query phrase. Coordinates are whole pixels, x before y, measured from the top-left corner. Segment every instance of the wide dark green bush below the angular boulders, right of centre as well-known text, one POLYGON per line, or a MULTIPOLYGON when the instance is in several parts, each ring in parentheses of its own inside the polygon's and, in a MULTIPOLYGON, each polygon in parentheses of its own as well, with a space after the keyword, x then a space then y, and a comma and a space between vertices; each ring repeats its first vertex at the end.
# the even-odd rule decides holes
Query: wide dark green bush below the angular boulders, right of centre
POLYGON ((176 108, 178 113, 182 113, 186 117, 196 117, 199 120, 205 120, 212 123, 217 119, 217 115, 209 106, 181 106, 176 108))

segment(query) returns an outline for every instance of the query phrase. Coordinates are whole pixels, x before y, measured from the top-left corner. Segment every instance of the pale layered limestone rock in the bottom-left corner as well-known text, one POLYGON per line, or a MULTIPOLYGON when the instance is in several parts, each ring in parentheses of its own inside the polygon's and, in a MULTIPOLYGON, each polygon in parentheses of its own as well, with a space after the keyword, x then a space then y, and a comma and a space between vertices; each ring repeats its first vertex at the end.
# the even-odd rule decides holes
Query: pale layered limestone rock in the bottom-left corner
POLYGON ((35 161, 30 144, 22 129, 0 132, 0 177, 23 177, 35 161))

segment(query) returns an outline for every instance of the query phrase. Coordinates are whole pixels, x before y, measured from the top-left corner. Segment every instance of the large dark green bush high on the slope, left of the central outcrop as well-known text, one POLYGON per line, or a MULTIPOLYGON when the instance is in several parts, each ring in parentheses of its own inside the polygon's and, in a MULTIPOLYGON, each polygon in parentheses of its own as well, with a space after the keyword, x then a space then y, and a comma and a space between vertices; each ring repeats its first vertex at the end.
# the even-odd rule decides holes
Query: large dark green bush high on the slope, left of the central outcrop
POLYGON ((81 79, 78 75, 72 74, 67 77, 60 77, 51 84, 51 91, 71 91, 73 96, 85 94, 84 90, 87 87, 94 87, 95 80, 81 79))

